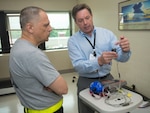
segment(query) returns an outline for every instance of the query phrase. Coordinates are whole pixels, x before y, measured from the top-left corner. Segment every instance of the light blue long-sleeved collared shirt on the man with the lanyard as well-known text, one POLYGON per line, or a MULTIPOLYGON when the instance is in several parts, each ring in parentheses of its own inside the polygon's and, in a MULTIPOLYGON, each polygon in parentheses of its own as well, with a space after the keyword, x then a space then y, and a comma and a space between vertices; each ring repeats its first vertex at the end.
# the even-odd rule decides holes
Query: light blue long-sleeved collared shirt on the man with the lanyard
POLYGON ((94 28, 91 37, 82 31, 78 31, 72 35, 68 40, 68 51, 73 67, 79 76, 95 78, 110 73, 111 63, 100 66, 98 64, 98 56, 101 56, 104 51, 111 51, 113 48, 116 48, 118 53, 117 61, 128 61, 131 52, 123 52, 119 45, 115 45, 117 41, 117 37, 111 31, 100 27, 94 28), (94 32, 96 32, 96 58, 90 59, 90 55, 93 54, 93 48, 85 37, 94 45, 94 32))

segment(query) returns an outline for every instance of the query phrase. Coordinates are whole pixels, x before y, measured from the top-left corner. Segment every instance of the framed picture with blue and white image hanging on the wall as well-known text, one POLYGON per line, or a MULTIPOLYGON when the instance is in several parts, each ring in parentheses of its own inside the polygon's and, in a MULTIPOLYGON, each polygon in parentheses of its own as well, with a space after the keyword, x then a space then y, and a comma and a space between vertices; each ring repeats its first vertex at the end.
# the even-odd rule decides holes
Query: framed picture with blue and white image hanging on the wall
POLYGON ((118 4, 119 30, 150 30, 150 0, 127 0, 118 4))

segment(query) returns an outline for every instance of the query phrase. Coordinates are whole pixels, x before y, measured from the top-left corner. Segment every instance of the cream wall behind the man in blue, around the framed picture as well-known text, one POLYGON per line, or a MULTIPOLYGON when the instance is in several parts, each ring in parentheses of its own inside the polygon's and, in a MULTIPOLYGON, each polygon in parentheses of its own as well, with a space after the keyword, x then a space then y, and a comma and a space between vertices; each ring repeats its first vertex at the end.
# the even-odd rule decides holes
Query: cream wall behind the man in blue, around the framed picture
MULTIPOLYGON (((129 86, 136 85, 137 90, 150 98, 150 31, 119 31, 118 3, 125 0, 79 0, 87 3, 93 11, 96 26, 112 30, 117 37, 128 37, 132 56, 127 63, 119 63, 121 78, 129 86)), ((116 62, 113 62, 112 74, 118 78, 116 62)))

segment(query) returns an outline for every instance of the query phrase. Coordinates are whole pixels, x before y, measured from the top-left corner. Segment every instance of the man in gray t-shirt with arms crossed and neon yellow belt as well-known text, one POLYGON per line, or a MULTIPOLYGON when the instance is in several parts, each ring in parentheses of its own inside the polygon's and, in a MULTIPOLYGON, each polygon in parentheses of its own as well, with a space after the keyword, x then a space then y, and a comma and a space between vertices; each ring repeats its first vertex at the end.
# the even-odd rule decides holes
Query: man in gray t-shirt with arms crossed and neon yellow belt
POLYGON ((26 7, 20 13, 21 38, 10 52, 9 68, 25 113, 63 113, 66 81, 38 46, 48 41, 52 28, 46 12, 26 7))

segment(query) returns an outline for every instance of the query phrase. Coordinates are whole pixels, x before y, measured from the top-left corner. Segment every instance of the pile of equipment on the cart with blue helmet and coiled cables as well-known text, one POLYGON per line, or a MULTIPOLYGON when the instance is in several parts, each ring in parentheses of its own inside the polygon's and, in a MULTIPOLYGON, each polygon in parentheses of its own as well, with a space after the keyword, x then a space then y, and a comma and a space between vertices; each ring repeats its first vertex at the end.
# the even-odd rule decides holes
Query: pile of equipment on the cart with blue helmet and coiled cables
POLYGON ((126 84, 127 82, 123 80, 107 80, 102 83, 94 81, 90 84, 89 90, 92 97, 99 99, 104 97, 105 103, 110 106, 128 106, 131 104, 132 95, 120 88, 126 84))

